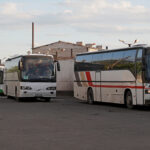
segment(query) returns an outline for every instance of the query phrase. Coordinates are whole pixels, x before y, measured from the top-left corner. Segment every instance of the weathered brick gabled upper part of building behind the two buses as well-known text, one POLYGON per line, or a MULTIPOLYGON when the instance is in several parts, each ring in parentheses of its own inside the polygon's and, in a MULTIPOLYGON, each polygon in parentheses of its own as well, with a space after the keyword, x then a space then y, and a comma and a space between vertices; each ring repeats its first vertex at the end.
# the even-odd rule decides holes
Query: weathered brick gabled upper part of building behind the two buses
POLYGON ((32 53, 51 54, 57 59, 70 59, 76 56, 78 53, 95 51, 96 48, 92 47, 92 44, 83 45, 82 42, 69 43, 58 41, 55 43, 35 47, 32 53))

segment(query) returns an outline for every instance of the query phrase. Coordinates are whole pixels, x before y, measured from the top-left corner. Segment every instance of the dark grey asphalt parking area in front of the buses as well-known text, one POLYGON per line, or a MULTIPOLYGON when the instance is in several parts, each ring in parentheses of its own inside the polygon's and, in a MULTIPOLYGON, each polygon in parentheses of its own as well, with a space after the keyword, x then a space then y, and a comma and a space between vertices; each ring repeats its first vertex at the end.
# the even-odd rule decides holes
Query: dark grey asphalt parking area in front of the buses
POLYGON ((149 137, 150 108, 0 97, 1 150, 141 150, 150 149, 149 137))

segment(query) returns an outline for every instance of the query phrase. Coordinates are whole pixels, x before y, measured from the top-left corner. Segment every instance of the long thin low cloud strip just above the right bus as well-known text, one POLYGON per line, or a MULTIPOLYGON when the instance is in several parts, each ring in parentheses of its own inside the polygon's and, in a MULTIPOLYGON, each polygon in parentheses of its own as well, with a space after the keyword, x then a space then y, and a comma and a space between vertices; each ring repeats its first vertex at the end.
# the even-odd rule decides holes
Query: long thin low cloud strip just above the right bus
POLYGON ((123 26, 123 25, 110 25, 110 24, 97 24, 97 23, 89 23, 87 24, 74 24, 76 30, 78 32, 84 33, 93 33, 94 35, 131 35, 131 34, 145 34, 150 33, 150 27, 141 27, 141 26, 123 26))

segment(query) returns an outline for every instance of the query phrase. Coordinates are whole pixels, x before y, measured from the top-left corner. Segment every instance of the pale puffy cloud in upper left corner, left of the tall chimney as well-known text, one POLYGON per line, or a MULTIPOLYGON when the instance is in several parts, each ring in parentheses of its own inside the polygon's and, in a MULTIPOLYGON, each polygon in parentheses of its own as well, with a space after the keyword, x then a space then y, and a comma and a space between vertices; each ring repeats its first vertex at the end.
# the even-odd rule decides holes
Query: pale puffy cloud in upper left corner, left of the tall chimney
POLYGON ((34 14, 23 11, 20 3, 7 2, 0 5, 0 29, 18 29, 25 27, 34 18, 34 14))

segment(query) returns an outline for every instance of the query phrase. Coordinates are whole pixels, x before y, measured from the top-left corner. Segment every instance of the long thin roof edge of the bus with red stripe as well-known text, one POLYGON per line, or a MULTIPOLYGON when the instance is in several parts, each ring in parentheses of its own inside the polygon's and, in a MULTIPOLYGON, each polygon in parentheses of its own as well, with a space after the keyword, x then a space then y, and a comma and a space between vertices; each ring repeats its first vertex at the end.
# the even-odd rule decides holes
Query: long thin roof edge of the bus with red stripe
POLYGON ((136 46, 132 46, 132 47, 126 47, 126 48, 117 48, 117 49, 111 49, 111 50, 101 50, 101 51, 94 51, 94 52, 85 52, 85 53, 79 53, 77 54, 77 56, 80 55, 86 55, 86 54, 97 54, 97 53, 107 53, 107 52, 112 52, 112 51, 122 51, 122 50, 134 50, 134 49, 139 49, 139 48, 150 48, 150 46, 147 45, 136 45, 136 46))

